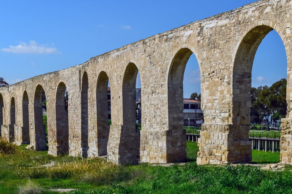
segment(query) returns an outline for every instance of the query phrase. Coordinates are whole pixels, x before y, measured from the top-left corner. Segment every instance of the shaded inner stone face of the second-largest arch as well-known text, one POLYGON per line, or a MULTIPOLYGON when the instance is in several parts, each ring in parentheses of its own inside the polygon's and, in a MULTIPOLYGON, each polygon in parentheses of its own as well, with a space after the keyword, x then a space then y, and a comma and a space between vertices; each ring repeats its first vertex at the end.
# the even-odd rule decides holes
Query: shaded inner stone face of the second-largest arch
POLYGON ((187 159, 186 134, 183 129, 183 76, 187 61, 192 54, 193 51, 189 48, 181 48, 174 55, 168 68, 167 162, 186 161, 187 159))

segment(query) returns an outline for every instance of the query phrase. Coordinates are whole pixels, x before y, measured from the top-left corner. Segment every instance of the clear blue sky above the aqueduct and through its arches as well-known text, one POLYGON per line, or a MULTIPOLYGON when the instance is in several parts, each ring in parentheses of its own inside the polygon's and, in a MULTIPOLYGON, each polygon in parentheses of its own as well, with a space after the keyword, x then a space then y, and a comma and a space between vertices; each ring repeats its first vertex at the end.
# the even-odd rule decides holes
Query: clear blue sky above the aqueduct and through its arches
MULTIPOLYGON (((0 77, 12 84, 65 69, 157 33, 252 2, 2 1, 0 77)), ((271 85, 286 78, 286 65, 283 42, 277 33, 271 32, 257 51, 252 85, 271 85)), ((198 68, 192 56, 184 76, 184 97, 192 92, 200 93, 198 68)))

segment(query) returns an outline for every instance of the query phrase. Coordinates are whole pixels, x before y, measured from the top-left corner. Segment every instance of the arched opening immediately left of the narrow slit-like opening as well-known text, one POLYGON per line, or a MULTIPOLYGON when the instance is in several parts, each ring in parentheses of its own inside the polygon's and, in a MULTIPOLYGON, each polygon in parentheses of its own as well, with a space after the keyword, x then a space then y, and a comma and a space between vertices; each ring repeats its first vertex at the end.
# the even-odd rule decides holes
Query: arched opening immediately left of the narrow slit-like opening
POLYGON ((69 97, 65 83, 61 82, 56 91, 56 136, 57 154, 69 153, 69 97))

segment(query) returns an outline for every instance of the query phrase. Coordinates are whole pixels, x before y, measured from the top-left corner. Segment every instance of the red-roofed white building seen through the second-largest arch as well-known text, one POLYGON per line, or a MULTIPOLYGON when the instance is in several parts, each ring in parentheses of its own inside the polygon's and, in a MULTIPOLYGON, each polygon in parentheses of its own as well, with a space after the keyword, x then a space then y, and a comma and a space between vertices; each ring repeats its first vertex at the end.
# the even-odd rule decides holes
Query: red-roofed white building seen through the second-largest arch
POLYGON ((193 99, 183 99, 184 126, 201 127, 203 123, 201 102, 193 99))

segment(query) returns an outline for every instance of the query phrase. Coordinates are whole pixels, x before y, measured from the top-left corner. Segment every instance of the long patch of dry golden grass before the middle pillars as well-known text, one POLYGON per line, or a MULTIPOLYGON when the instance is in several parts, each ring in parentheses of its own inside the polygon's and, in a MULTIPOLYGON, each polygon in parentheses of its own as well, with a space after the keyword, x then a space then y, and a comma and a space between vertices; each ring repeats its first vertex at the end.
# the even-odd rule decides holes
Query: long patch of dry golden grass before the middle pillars
POLYGON ((39 168, 18 168, 23 178, 74 179, 80 182, 108 184, 131 178, 124 166, 108 163, 104 159, 82 159, 39 168))

